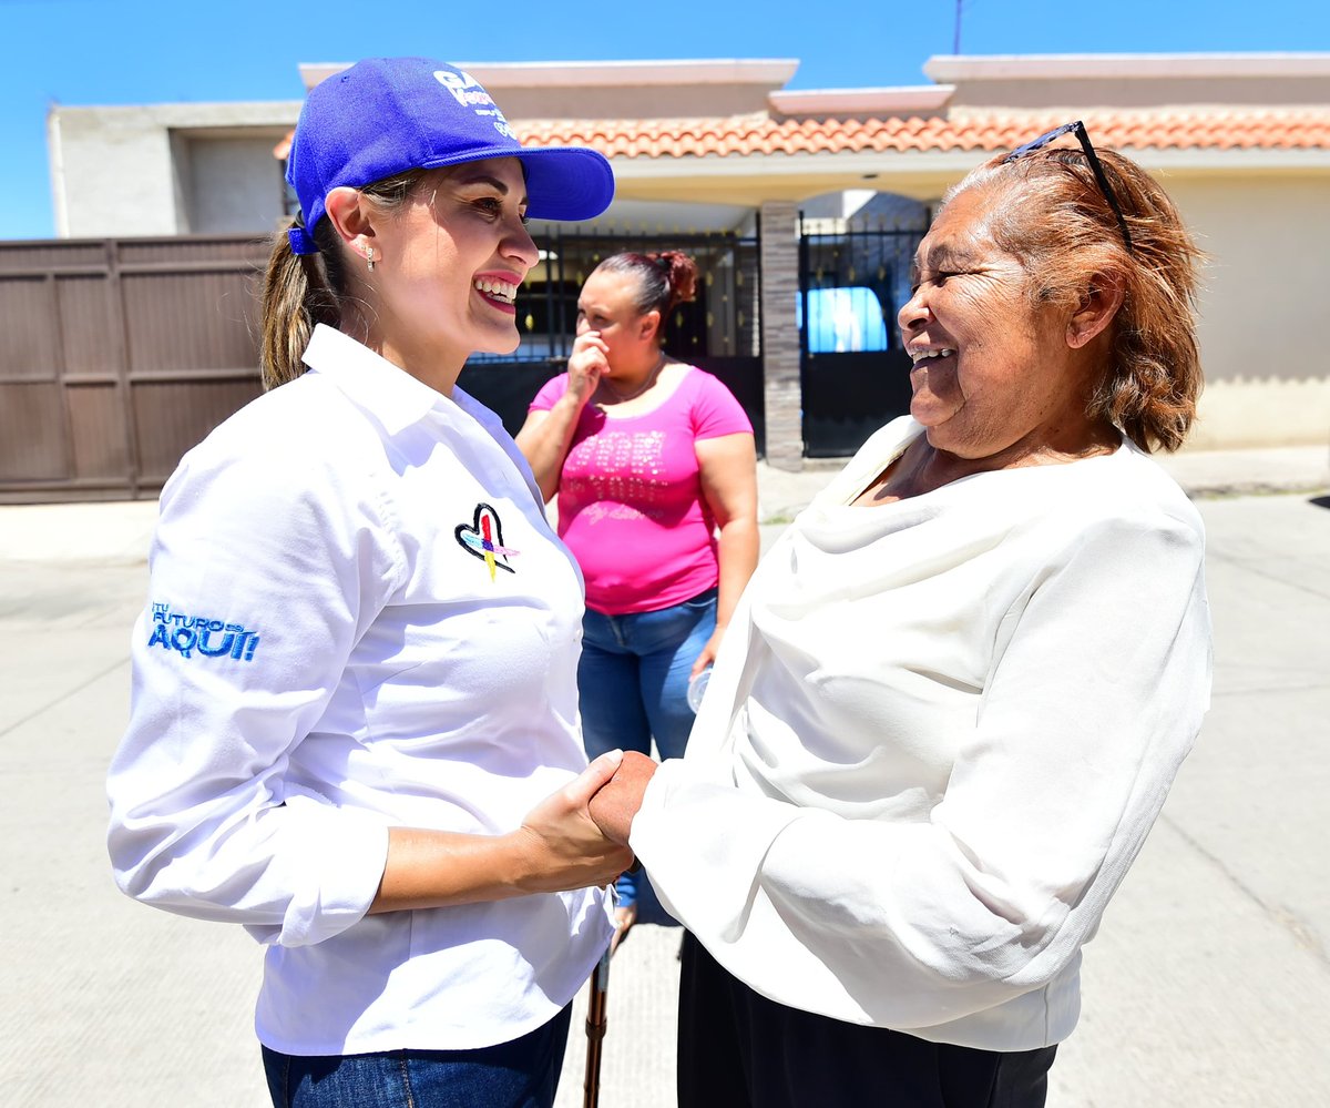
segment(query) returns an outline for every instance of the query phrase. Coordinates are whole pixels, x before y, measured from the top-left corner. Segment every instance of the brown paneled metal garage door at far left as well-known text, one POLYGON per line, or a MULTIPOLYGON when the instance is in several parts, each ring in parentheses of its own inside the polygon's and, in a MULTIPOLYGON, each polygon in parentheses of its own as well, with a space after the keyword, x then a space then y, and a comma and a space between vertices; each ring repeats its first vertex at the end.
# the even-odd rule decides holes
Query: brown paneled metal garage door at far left
POLYGON ((154 497, 259 393, 251 236, 0 244, 0 502, 154 497))

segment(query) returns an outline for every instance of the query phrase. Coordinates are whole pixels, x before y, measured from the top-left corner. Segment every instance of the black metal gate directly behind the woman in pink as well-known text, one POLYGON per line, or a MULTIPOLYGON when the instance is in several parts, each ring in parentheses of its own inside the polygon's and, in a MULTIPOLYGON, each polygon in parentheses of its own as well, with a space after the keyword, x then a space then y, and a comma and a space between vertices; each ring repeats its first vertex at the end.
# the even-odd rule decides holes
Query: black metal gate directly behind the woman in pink
POLYGON ((757 236, 710 233, 595 233, 552 226, 536 236, 540 264, 517 293, 521 346, 512 356, 472 357, 459 384, 493 409, 516 434, 527 405, 563 373, 577 333, 577 296, 601 260, 621 250, 684 250, 698 266, 697 298, 665 324, 665 349, 724 381, 765 447, 759 246, 757 236))

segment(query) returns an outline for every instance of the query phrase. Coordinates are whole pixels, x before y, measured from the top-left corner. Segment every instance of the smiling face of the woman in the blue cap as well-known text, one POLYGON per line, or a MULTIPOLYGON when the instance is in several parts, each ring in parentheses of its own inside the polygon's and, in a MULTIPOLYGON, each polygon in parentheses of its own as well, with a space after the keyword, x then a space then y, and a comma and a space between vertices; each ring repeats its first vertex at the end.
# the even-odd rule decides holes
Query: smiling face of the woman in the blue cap
POLYGON ((536 245, 516 158, 431 173, 406 206, 375 225, 371 329, 408 369, 460 369, 472 353, 517 348, 513 300, 536 245))

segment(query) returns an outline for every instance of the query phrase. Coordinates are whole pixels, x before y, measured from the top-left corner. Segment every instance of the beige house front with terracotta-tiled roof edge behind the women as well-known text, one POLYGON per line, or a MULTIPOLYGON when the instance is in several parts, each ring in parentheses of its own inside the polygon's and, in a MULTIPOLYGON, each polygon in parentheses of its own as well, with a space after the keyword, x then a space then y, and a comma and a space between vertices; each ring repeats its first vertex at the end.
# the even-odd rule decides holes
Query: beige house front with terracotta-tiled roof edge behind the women
MULTIPOLYGON (((339 68, 301 73, 313 87, 339 68)), ((948 185, 1072 119, 1157 174, 1209 254, 1208 384, 1189 449, 1330 437, 1330 354, 1306 341, 1330 286, 1330 53, 934 57, 928 84, 826 91, 787 89, 793 60, 466 68, 525 142, 591 145, 610 158, 616 201, 573 233, 732 244, 714 252, 693 341, 759 357, 773 465, 818 453, 810 393, 839 356, 835 388, 853 394, 891 374, 895 400, 883 404, 899 406, 908 394, 899 360, 871 357, 898 345, 899 260, 948 185), (759 284, 746 293, 741 242, 753 244, 759 284), (831 334, 819 304, 845 316, 850 345, 866 336, 862 349, 818 337, 831 334)), ((282 168, 299 107, 53 108, 59 233, 274 229, 290 212, 282 168)), ((535 232, 553 242, 569 229, 535 232)), ((533 304, 553 302, 557 253, 548 249, 533 274, 533 304)), ((576 277, 561 273, 560 296, 576 277)), ((529 328, 553 326, 540 314, 527 313, 529 328)))

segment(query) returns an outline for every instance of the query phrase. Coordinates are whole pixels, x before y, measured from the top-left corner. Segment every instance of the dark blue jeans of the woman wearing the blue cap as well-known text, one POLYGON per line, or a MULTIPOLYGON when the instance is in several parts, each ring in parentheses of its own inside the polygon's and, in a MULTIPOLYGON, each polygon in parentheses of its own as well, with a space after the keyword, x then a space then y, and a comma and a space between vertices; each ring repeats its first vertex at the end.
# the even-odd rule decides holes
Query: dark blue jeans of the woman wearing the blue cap
POLYGON ((267 1091, 274 1108, 552 1108, 571 1013, 476 1051, 302 1057, 263 1047, 267 1091))

